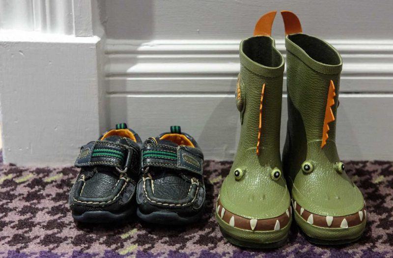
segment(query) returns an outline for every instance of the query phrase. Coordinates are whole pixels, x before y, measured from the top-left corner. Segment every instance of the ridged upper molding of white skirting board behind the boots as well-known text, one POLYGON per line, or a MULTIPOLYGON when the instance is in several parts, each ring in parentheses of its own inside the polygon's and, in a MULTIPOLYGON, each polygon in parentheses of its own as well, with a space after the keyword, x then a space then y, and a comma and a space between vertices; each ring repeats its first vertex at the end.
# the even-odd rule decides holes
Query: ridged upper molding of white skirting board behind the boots
MULTIPOLYGON (((328 41, 344 60, 341 91, 393 92, 393 40, 328 41)), ((231 93, 239 42, 107 39, 108 92, 231 93)), ((285 56, 284 41, 277 40, 276 47, 285 56)))

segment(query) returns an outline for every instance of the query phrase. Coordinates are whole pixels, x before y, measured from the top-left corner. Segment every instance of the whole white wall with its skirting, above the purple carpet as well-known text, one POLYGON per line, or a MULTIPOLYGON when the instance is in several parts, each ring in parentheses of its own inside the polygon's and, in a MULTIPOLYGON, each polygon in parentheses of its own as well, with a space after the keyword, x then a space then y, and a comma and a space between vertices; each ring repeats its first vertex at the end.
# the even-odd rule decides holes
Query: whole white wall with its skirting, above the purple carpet
MULTIPOLYGON (((207 159, 232 159, 239 42, 274 9, 295 12, 344 59, 341 158, 393 160, 391 0, 0 0, 4 161, 71 165, 118 122, 142 138, 181 125, 207 159)), ((278 14, 285 55, 283 34, 278 14)))

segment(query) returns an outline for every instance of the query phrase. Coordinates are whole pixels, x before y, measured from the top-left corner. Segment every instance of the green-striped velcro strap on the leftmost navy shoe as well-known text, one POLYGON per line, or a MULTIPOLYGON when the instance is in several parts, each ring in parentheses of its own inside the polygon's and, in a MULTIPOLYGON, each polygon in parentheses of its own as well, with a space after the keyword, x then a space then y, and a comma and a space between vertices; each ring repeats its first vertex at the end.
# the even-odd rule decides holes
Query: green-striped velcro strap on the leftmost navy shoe
POLYGON ((131 146, 103 141, 90 142, 81 147, 81 152, 75 162, 78 168, 86 166, 112 166, 120 173, 133 169, 138 162, 138 152, 131 146))

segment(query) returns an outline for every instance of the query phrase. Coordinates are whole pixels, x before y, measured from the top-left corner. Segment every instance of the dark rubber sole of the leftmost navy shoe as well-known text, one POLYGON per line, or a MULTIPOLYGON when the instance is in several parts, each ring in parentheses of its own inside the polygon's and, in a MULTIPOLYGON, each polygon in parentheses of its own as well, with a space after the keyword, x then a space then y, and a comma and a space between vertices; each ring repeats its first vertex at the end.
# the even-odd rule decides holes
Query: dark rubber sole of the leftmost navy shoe
POLYGON ((135 208, 131 208, 120 213, 98 210, 85 211, 80 215, 72 213, 72 217, 75 221, 82 223, 112 223, 125 221, 130 218, 134 213, 135 208))

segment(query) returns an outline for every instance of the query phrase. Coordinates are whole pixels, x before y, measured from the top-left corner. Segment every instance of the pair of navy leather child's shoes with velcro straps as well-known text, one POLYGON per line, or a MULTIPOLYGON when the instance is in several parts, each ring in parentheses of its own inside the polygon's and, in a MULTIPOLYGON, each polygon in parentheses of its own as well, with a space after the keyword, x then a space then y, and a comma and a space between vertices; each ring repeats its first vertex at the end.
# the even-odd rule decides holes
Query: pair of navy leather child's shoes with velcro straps
POLYGON ((87 143, 69 204, 77 222, 120 222, 137 210, 140 219, 187 224, 202 215, 203 154, 180 126, 144 143, 125 123, 87 143))

